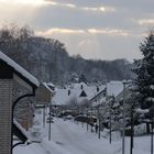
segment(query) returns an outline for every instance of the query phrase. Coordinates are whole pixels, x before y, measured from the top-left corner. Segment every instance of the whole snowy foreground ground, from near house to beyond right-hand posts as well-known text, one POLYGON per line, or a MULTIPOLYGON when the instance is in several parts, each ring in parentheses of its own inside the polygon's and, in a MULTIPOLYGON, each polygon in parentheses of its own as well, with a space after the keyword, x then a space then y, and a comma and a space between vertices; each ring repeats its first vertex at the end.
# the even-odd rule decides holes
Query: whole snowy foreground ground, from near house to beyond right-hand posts
MULTIPOLYGON (((52 123, 52 141, 48 141, 48 124, 43 130, 42 143, 19 145, 13 154, 121 154, 121 139, 114 139, 112 144, 101 138, 86 125, 54 119, 52 123)), ((135 138, 133 154, 150 154, 150 136, 135 138)), ((125 154, 130 153, 130 139, 125 139, 125 154)))

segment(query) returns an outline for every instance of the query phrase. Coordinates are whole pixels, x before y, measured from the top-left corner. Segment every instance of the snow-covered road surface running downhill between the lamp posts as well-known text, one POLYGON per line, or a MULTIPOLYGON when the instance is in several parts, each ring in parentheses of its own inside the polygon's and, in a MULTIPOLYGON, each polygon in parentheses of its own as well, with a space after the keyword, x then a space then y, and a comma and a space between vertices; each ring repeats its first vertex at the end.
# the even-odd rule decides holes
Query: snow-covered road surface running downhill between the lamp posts
MULTIPOLYGON (((52 132, 52 141, 57 144, 58 150, 65 151, 64 154, 116 154, 120 151, 119 146, 113 148, 109 141, 99 140, 96 133, 87 132, 86 128, 70 121, 55 120, 52 132)), ((50 142, 47 144, 50 145, 50 142)))

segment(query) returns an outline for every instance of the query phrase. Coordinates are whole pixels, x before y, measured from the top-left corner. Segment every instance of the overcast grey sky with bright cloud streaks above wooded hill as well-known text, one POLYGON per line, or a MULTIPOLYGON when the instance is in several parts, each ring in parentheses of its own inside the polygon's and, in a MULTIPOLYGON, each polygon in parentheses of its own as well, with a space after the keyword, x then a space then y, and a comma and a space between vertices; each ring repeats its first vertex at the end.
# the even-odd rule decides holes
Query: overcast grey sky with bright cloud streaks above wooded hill
POLYGON ((28 24, 70 55, 132 62, 154 25, 153 7, 154 0, 0 0, 0 23, 28 24))

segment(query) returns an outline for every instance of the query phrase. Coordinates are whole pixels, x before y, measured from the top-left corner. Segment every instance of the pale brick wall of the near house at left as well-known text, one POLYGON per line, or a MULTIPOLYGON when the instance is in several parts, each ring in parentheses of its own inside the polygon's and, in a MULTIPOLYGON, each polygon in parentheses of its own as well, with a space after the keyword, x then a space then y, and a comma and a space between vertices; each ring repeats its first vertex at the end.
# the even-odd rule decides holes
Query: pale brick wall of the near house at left
POLYGON ((0 79, 0 154, 11 154, 12 79, 0 79))

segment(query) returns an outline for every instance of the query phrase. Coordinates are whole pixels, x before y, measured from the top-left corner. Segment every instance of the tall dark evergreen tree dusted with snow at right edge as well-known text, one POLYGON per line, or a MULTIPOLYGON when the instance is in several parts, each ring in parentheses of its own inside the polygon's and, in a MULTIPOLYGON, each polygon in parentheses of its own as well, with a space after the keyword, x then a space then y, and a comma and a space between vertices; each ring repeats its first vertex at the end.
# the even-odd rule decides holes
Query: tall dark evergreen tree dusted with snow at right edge
POLYGON ((154 103, 154 31, 141 43, 140 51, 143 58, 134 63, 136 78, 133 84, 141 108, 150 109, 154 103))

